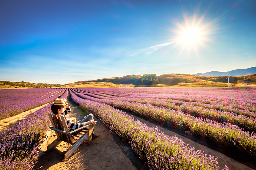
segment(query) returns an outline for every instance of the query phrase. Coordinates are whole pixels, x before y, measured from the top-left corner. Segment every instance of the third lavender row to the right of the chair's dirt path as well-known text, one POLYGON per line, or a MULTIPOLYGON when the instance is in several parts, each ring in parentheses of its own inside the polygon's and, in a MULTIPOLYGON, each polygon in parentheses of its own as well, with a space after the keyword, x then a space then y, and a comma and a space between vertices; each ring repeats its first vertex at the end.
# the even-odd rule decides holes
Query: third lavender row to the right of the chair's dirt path
MULTIPOLYGON (((77 92, 77 91, 76 91, 77 92)), ((80 92, 80 91, 78 91, 80 92)), ((236 115, 235 113, 230 113, 230 112, 222 112, 222 111, 217 111, 214 109, 208 109, 208 108, 202 108, 199 106, 193 106, 190 104, 182 104, 180 107, 176 106, 174 104, 170 104, 168 102, 164 102, 164 101, 153 101, 153 100, 149 100, 149 99, 120 99, 120 98, 111 98, 108 100, 107 97, 103 97, 103 96, 98 96, 95 94, 91 94, 88 92, 83 92, 82 94, 86 94, 89 95, 91 97, 96 97, 99 99, 107 99, 107 103, 106 104, 110 104, 113 103, 114 101, 128 101, 128 102, 135 102, 135 103, 141 103, 141 104, 151 104, 153 106, 158 106, 158 107, 166 107, 166 108, 170 108, 173 110, 178 110, 181 111, 185 114, 190 114, 194 117, 198 117, 198 118, 203 118, 203 119, 209 119, 209 120, 213 120, 213 121, 217 121, 220 123, 230 123, 230 124, 234 124, 237 125, 241 128, 244 129, 244 131, 256 131, 256 120, 255 118, 251 118, 251 117, 246 117, 244 115, 236 115)), ((83 96, 86 97, 86 96, 83 96)), ((87 98, 90 100, 94 100, 92 98, 87 98)), ((99 101, 99 100, 97 100, 99 101)), ((104 101, 104 100, 103 100, 104 101)))

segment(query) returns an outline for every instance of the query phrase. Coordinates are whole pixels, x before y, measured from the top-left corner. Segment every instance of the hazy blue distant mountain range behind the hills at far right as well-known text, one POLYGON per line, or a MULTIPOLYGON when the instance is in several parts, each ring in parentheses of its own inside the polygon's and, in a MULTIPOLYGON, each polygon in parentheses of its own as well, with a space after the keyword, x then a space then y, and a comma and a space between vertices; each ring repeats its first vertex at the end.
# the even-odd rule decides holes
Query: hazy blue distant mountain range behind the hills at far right
POLYGON ((248 74, 256 74, 256 67, 251 67, 248 69, 236 69, 226 72, 220 72, 220 71, 211 71, 207 73, 197 73, 194 75, 197 76, 243 76, 248 74))

